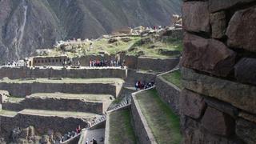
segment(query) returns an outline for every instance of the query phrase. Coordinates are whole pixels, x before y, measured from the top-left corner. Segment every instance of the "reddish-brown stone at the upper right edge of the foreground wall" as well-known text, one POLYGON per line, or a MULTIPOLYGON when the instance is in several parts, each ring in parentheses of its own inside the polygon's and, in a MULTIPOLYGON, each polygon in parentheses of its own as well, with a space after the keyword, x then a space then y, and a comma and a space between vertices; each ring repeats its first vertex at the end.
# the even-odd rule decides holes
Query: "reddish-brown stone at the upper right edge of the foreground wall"
POLYGON ((228 46, 256 52, 256 6, 237 11, 226 30, 228 46))

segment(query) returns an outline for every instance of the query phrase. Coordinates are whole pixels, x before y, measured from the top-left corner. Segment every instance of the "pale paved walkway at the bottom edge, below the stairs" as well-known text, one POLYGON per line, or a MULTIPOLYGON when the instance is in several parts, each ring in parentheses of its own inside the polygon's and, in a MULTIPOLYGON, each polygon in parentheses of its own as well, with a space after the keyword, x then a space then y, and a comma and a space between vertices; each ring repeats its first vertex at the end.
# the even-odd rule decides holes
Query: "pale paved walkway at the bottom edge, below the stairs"
POLYGON ((86 130, 86 132, 84 133, 84 138, 85 141, 83 144, 86 144, 86 141, 90 143, 90 140, 92 140, 93 138, 97 141, 98 144, 104 144, 105 129, 86 130))

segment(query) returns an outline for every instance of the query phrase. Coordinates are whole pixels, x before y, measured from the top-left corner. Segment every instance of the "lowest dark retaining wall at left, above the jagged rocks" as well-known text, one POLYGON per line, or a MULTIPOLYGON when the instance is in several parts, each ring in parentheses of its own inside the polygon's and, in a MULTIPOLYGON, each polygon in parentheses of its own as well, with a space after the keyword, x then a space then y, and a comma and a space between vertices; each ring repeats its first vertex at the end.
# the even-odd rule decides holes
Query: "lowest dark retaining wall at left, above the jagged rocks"
POLYGON ((47 134, 48 130, 66 134, 75 130, 77 126, 86 126, 86 122, 82 118, 60 118, 56 116, 46 117, 39 115, 17 114, 14 118, 0 116, 0 136, 9 139, 11 130, 17 127, 34 126, 38 135, 47 134))

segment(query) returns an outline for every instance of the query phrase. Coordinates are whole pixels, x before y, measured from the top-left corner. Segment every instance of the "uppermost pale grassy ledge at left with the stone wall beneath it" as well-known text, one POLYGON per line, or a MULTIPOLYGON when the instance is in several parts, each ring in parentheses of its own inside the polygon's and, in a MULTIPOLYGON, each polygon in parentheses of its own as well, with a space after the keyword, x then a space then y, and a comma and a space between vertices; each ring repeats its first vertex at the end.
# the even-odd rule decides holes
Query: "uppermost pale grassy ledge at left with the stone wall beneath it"
POLYGON ((36 78, 0 80, 0 89, 8 90, 10 95, 25 97, 34 93, 72 93, 72 94, 111 94, 117 97, 123 80, 120 78, 36 78))

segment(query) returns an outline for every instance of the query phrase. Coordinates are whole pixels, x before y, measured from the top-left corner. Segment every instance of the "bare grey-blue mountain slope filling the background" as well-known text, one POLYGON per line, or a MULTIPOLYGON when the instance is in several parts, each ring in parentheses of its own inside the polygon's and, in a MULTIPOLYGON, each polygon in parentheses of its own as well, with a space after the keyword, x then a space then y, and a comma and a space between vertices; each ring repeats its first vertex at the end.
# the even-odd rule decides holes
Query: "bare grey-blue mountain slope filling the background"
POLYGON ((169 25, 180 5, 181 0, 0 0, 0 60, 123 26, 169 25))

